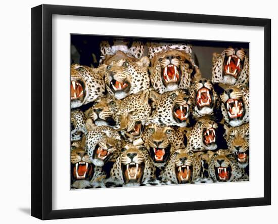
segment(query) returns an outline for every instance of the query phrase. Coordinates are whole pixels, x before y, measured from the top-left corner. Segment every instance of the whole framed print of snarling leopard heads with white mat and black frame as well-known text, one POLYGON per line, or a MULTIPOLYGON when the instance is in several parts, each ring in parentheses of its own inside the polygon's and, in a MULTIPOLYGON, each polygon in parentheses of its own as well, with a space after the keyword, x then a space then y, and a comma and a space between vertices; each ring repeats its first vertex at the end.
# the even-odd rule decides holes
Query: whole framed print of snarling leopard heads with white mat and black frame
POLYGON ((31 12, 32 216, 270 205, 270 19, 31 12))

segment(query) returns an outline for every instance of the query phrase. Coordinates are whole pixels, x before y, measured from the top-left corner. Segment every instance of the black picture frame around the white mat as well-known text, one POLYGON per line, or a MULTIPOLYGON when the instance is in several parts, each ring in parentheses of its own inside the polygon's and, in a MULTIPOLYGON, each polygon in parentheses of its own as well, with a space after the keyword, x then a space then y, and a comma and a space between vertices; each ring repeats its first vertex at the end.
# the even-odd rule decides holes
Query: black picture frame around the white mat
POLYGON ((77 218, 271 204, 271 20, 245 17, 40 5, 31 9, 31 215, 77 218), (52 208, 52 16, 94 16, 264 28, 264 196, 198 202, 53 210, 52 208))

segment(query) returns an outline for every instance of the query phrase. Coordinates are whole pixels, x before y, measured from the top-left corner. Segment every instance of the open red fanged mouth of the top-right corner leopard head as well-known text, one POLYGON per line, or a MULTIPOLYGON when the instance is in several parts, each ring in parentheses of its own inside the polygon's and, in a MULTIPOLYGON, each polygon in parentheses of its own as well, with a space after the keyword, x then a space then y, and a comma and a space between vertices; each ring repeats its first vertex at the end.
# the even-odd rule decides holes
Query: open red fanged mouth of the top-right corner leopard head
POLYGON ((242 69, 242 61, 236 56, 232 55, 227 57, 224 64, 224 75, 231 75, 235 78, 238 77, 242 69))

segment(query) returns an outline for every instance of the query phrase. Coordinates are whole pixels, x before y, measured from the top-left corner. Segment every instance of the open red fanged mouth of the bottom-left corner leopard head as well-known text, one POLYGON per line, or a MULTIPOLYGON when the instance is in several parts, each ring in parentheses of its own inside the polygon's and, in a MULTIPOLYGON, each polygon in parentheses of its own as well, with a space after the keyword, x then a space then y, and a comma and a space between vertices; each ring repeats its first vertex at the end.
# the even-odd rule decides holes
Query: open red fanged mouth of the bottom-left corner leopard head
POLYGON ((91 163, 80 161, 72 164, 71 167, 74 180, 85 180, 92 175, 93 166, 91 163))

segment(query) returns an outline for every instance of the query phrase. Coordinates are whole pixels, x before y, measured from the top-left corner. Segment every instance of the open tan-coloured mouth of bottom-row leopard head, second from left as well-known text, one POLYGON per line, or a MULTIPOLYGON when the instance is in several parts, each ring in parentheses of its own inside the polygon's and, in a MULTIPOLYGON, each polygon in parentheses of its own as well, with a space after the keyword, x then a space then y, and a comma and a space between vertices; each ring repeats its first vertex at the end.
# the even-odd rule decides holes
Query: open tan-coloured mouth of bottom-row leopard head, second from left
POLYGON ((122 164, 124 182, 127 183, 141 183, 145 164, 128 163, 122 164))

